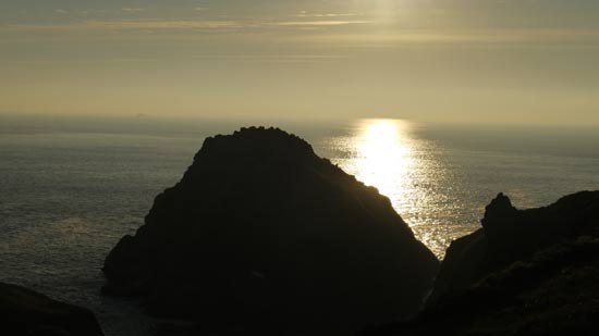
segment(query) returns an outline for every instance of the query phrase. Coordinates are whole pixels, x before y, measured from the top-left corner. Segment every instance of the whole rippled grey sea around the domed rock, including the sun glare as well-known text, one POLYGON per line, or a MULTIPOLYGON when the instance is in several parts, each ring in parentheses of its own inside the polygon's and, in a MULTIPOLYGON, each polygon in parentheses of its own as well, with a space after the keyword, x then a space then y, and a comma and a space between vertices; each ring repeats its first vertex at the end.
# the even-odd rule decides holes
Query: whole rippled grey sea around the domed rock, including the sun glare
MULTIPOLYGON (((265 124, 265 123, 262 123, 265 124)), ((439 258, 500 191, 518 208, 599 189, 599 129, 266 123, 388 196, 439 258)), ((0 282, 93 309, 107 335, 148 335, 134 303, 102 298, 109 250, 143 224, 205 137, 247 123, 0 117, 0 282)))

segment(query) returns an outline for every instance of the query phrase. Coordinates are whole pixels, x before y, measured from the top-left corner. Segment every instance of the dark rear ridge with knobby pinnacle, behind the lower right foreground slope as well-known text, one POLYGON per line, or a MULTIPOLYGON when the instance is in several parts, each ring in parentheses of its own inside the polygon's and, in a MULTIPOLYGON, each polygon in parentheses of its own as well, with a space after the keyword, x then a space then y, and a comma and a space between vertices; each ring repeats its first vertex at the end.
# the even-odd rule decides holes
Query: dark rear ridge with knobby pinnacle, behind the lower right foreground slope
MULTIPOLYGON (((482 228, 451 244, 431 300, 464 289, 546 247, 599 231, 599 192, 583 191, 538 209, 516 210, 503 194, 487 206, 482 228)), ((599 236, 598 236, 599 237, 599 236)))

